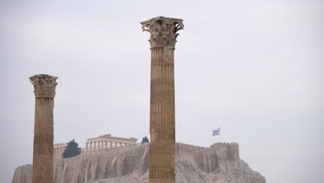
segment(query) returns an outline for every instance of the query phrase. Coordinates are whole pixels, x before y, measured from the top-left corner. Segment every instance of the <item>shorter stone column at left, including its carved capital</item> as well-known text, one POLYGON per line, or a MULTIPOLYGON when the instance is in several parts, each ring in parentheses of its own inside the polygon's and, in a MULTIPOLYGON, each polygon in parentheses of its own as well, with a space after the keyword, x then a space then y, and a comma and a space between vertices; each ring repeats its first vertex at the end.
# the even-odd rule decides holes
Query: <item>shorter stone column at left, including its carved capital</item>
POLYGON ((33 183, 53 183, 53 107, 57 77, 30 77, 35 93, 33 183))

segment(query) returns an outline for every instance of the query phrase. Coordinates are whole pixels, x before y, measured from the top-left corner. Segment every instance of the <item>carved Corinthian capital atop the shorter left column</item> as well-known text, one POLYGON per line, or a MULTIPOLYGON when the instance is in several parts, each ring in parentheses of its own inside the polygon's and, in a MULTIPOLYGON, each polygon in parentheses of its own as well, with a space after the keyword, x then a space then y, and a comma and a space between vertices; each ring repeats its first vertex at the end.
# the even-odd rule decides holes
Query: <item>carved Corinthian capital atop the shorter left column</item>
POLYGON ((57 77, 47 74, 37 74, 29 78, 34 85, 35 97, 55 97, 55 88, 57 77))

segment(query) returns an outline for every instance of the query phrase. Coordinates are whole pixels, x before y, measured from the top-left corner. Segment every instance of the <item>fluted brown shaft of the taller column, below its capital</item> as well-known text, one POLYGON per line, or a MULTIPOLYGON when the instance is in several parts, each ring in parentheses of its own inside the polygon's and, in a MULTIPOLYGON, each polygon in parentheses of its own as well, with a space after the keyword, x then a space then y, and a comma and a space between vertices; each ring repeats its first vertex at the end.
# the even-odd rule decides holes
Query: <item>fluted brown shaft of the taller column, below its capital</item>
POLYGON ((151 49, 150 182, 174 180, 174 49, 151 49), (168 52, 170 58, 165 59, 168 52), (153 181, 154 180, 154 181, 153 181))

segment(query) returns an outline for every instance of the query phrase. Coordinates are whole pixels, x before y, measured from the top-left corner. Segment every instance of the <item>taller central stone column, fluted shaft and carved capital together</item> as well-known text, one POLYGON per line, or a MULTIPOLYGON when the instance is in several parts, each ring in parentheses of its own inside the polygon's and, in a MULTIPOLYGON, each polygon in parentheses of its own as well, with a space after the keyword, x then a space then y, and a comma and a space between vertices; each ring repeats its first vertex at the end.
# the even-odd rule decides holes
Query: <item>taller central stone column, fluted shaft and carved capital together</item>
POLYGON ((174 47, 183 20, 156 17, 141 24, 151 34, 150 183, 174 183, 174 47))

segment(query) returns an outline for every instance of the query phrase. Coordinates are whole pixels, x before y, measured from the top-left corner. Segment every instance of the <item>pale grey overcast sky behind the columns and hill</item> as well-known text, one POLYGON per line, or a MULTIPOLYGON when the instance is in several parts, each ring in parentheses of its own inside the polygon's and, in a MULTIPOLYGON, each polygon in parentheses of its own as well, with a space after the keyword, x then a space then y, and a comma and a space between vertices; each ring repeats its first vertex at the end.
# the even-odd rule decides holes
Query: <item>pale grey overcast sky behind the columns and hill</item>
MULTIPOLYGON (((55 143, 149 137, 150 34, 183 19, 176 139, 240 144, 270 183, 324 180, 323 1, 0 1, 0 182, 33 162, 28 77, 57 76, 55 143)), ((139 140, 140 141, 140 140, 139 140)))

